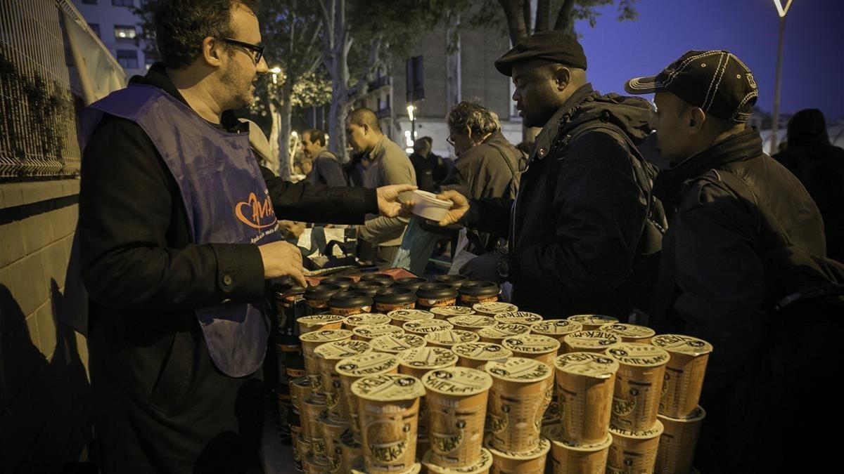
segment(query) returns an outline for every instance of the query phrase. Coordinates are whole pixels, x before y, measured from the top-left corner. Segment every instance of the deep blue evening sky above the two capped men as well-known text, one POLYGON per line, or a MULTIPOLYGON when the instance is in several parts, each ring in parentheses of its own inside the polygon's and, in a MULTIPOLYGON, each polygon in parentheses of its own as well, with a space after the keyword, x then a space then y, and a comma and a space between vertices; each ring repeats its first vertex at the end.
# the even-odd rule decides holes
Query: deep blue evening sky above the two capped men
MULTIPOLYGON (((658 73, 685 51, 725 49, 753 71, 756 105, 773 109, 779 24, 773 0, 639 0, 636 6, 635 21, 617 21, 611 6, 600 10, 595 28, 576 25, 595 89, 623 93, 625 80, 658 73)), ((805 108, 823 110, 828 122, 844 117, 844 0, 793 0, 788 10, 780 111, 805 108)))

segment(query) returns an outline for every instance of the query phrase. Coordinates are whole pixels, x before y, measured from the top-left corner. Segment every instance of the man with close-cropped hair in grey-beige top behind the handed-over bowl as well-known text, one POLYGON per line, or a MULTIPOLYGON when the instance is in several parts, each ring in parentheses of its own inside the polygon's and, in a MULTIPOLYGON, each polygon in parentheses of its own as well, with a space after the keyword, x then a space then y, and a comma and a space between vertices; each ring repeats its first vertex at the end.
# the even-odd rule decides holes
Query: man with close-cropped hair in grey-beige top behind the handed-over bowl
MULTIPOLYGON (((346 119, 346 137, 355 152, 368 155, 366 187, 416 185, 416 172, 408 155, 381 132, 375 112, 365 107, 352 110, 346 119)), ((358 226, 358 236, 378 246, 379 258, 392 261, 407 225, 407 218, 371 218, 358 226)))

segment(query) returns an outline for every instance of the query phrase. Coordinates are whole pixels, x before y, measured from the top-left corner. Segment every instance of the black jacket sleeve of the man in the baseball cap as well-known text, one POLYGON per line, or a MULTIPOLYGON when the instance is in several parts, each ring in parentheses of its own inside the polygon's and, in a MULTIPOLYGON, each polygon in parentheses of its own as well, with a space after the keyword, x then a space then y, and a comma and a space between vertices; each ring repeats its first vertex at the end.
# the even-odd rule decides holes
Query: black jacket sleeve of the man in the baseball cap
POLYGON ((674 310, 684 334, 715 349, 706 366, 704 392, 730 385, 759 353, 769 317, 763 307, 765 268, 757 254, 756 220, 731 191, 696 184, 671 222, 674 310))

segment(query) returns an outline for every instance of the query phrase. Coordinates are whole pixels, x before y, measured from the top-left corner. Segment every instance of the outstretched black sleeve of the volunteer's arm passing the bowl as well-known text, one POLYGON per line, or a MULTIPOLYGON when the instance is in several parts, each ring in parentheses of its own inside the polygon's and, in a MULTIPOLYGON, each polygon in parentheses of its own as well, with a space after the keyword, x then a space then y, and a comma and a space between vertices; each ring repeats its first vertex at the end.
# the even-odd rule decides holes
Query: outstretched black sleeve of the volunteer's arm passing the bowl
POLYGON ((367 213, 378 213, 376 190, 350 186, 312 185, 285 181, 261 168, 273 209, 279 219, 330 224, 363 224, 367 213))

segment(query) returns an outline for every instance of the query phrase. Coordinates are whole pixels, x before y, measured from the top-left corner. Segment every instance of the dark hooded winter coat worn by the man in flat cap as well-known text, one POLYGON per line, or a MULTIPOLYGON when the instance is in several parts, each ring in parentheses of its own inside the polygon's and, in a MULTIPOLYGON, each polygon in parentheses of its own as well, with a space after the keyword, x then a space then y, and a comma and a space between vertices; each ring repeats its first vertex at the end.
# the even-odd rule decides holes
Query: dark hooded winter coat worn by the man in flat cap
POLYGON ((637 180, 641 159, 628 143, 647 137, 651 116, 644 100, 584 85, 537 136, 515 206, 509 199, 472 202, 468 224, 511 231, 509 279, 522 310, 547 319, 630 310, 619 288, 639 250, 655 251, 660 238, 640 239, 650 183, 637 180), (601 127, 577 132, 587 126, 601 127))

